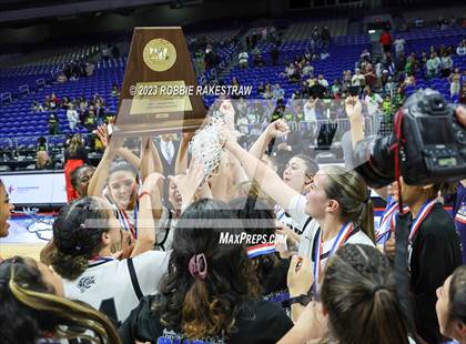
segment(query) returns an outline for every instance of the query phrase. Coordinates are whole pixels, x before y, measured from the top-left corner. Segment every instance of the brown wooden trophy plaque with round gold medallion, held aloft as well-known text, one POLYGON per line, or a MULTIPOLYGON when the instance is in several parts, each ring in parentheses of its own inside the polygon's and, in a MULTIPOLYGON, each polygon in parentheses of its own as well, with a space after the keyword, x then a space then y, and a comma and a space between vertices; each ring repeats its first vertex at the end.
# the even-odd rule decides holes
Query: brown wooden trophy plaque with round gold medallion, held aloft
POLYGON ((134 28, 112 134, 196 130, 206 109, 180 27, 134 28))

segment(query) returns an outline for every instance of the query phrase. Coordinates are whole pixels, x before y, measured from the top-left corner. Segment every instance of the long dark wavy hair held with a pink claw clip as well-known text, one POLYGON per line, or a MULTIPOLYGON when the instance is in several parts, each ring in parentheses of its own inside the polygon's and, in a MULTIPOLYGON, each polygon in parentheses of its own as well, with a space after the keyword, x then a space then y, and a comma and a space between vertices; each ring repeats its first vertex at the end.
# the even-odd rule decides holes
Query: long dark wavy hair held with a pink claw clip
POLYGON ((201 200, 181 215, 173 237, 162 297, 154 305, 163 325, 189 338, 229 336, 236 316, 257 296, 257 279, 242 244, 220 244, 223 234, 241 234, 241 225, 223 202, 201 200), (207 274, 193 277, 189 263, 204 254, 207 274))

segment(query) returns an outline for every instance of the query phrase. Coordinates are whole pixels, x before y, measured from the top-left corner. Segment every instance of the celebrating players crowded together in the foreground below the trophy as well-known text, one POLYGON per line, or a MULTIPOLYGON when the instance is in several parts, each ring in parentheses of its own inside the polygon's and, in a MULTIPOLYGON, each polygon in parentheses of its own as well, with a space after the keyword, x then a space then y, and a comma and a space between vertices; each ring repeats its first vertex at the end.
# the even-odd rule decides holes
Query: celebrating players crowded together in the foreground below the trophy
MULTIPOLYGON (((267 148, 290 134, 281 119, 245 150, 232 102, 219 111, 212 156, 189 154, 200 132, 141 138, 133 151, 100 127, 105 150, 92 169, 71 140, 53 239, 40 261, 0 263, 2 343, 466 343, 465 180, 453 184, 453 217, 444 183, 377 189, 387 208, 375 227, 355 171, 294 149, 278 159, 267 148), (402 210, 417 219, 407 262, 394 259, 402 210)), ((364 139, 357 97, 344 111, 364 139)), ((464 108, 456 117, 466 125, 464 108)), ((14 206, 2 183, 0 204, 3 237, 14 206)))

